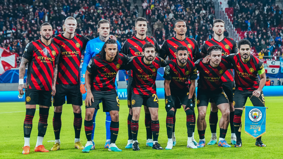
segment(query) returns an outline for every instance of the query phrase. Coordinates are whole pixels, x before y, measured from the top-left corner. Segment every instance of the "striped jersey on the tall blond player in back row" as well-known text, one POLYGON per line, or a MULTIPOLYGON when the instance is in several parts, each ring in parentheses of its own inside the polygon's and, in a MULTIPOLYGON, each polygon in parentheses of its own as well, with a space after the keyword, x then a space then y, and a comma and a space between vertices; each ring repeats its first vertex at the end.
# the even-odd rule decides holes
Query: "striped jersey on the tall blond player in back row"
POLYGON ((58 74, 56 83, 66 85, 79 84, 81 54, 89 41, 86 36, 75 34, 72 39, 63 36, 63 33, 52 39, 60 47, 58 74))

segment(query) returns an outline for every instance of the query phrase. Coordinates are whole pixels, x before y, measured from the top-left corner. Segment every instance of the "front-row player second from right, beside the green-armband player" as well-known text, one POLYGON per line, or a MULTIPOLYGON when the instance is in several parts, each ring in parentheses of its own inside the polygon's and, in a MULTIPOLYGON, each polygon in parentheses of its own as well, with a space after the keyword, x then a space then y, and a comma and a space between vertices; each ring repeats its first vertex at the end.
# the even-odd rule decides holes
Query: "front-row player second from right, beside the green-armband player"
POLYGON ((219 121, 220 136, 218 146, 231 147, 227 144, 225 136, 229 125, 229 101, 222 89, 221 77, 226 70, 231 69, 231 63, 223 57, 222 47, 220 45, 208 47, 208 57, 211 59, 208 64, 203 63, 202 59, 195 62, 199 70, 199 80, 197 81, 197 131, 199 134, 199 143, 197 147, 205 146, 204 133, 206 129, 205 114, 209 99, 213 99, 222 116, 219 121))

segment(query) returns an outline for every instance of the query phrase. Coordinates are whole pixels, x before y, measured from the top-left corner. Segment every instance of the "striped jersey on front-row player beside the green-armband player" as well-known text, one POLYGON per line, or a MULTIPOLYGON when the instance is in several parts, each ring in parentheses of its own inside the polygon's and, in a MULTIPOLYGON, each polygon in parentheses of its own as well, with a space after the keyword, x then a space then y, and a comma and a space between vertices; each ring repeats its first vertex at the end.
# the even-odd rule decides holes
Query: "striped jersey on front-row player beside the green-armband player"
POLYGON ((225 59, 225 56, 222 56, 217 67, 212 67, 210 63, 203 63, 202 59, 198 59, 195 62, 195 66, 197 67, 197 70, 199 70, 197 88, 211 91, 222 89, 221 77, 225 71, 233 68, 232 64, 225 59))

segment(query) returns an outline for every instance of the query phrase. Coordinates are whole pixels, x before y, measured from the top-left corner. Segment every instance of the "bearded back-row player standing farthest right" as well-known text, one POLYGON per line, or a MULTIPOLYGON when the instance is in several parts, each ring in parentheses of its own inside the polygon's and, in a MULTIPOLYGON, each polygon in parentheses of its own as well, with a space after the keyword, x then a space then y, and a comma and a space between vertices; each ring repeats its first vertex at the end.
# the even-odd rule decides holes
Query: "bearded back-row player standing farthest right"
MULTIPOLYGON (((208 55, 208 47, 213 45, 220 45, 222 47, 222 56, 234 54, 238 52, 237 43, 235 40, 231 38, 227 38, 223 35, 224 33, 224 21, 221 19, 216 19, 213 22, 214 36, 212 39, 207 40, 204 42, 201 50, 202 56, 208 55)), ((234 83, 234 75, 233 70, 227 70, 223 76, 221 77, 222 80, 222 88, 225 94, 228 97, 229 105, 230 105, 230 128, 231 128, 231 144, 236 144, 236 136, 233 127, 233 118, 234 118, 234 106, 233 106, 233 94, 235 90, 235 83, 234 83)), ((207 145, 214 145, 217 143, 217 136, 216 136, 216 128, 218 122, 218 108, 216 107, 214 101, 211 99, 209 100, 211 103, 211 112, 209 116, 209 125, 211 129, 211 140, 207 143, 207 145)))

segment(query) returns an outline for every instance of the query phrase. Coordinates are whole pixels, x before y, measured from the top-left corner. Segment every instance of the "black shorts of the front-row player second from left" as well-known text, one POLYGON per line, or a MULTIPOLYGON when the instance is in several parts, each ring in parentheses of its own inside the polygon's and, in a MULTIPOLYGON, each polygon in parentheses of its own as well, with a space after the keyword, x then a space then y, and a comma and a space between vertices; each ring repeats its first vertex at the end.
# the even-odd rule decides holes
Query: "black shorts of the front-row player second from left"
POLYGON ((152 95, 139 95, 132 92, 132 107, 141 107, 146 105, 149 108, 158 108, 158 98, 156 94, 152 95))

